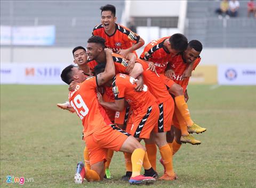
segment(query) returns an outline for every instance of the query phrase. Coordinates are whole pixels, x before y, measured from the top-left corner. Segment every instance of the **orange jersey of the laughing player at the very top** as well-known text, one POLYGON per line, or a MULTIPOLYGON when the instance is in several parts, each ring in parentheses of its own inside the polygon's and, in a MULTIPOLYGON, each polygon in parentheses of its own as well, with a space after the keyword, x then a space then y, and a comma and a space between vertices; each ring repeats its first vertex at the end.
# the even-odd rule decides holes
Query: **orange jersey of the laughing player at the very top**
POLYGON ((116 23, 116 30, 113 35, 109 36, 102 24, 94 27, 92 35, 100 36, 106 40, 105 45, 111 48, 114 53, 119 49, 130 48, 133 44, 137 44, 140 36, 132 32, 130 29, 116 23))

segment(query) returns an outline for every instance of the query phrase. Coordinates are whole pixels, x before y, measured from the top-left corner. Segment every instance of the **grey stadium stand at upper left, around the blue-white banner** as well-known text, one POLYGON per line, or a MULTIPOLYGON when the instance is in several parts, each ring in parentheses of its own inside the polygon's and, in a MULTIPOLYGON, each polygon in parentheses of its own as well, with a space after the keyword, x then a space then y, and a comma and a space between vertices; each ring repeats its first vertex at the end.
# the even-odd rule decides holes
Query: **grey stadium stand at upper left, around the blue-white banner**
POLYGON ((118 7, 121 21, 124 1, 1 1, 1 25, 55 25, 55 47, 78 46, 91 37, 105 4, 118 7))

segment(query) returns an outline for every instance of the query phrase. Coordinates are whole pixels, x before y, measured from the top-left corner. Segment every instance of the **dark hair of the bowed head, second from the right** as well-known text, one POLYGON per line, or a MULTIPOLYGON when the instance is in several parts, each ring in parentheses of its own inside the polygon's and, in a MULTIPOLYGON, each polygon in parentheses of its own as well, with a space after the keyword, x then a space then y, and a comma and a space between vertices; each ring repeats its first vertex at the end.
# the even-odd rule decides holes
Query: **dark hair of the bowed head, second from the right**
POLYGON ((169 38, 172 49, 183 52, 188 47, 188 39, 181 33, 176 33, 169 38))

